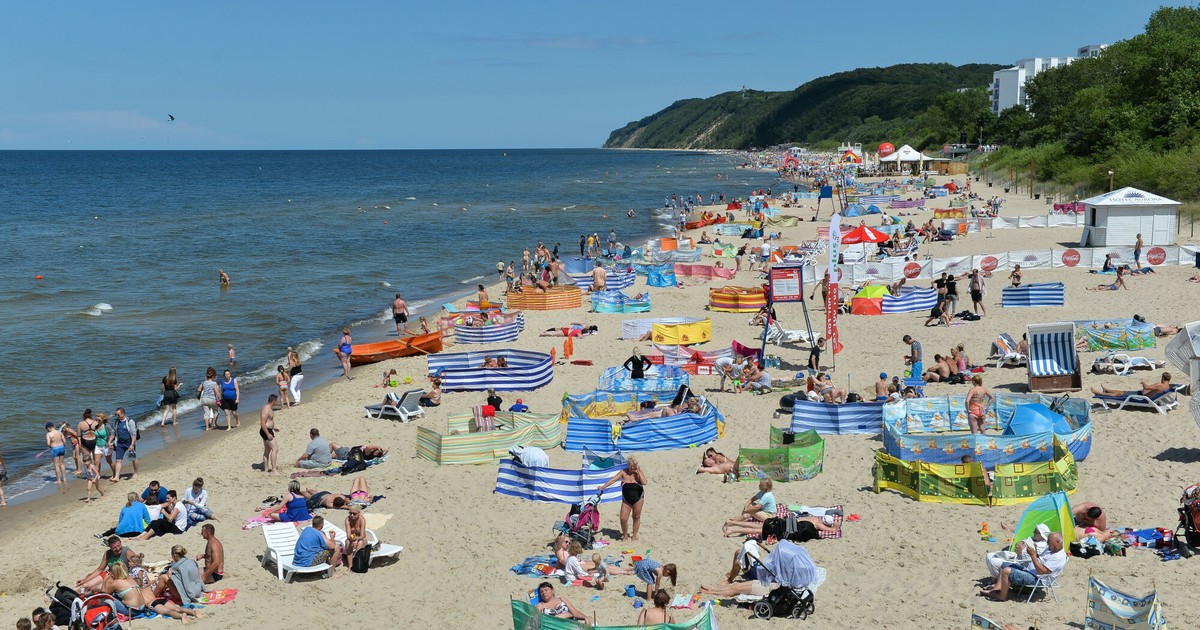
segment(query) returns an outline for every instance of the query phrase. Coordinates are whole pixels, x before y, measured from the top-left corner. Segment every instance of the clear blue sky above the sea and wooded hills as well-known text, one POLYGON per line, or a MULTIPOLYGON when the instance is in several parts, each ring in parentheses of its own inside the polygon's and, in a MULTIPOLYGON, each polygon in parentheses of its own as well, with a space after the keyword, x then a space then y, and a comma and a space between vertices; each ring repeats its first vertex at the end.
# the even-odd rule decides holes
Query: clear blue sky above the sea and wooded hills
POLYGON ((1160 4, 7 1, 0 149, 599 146, 742 85, 1069 55, 1160 4))

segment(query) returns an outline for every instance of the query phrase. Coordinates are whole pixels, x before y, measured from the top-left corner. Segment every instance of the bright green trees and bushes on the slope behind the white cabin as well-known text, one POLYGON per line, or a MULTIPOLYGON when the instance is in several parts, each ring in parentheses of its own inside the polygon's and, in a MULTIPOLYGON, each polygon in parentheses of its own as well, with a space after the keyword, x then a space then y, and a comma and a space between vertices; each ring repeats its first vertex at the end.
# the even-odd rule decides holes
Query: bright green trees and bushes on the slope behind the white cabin
POLYGON ((1198 68, 1200 7, 1159 8, 1146 32, 1028 82, 1030 112, 984 132, 1007 145, 985 167, 1020 178, 1032 161, 1038 179, 1090 191, 1108 190, 1111 170, 1118 188, 1200 199, 1198 68))

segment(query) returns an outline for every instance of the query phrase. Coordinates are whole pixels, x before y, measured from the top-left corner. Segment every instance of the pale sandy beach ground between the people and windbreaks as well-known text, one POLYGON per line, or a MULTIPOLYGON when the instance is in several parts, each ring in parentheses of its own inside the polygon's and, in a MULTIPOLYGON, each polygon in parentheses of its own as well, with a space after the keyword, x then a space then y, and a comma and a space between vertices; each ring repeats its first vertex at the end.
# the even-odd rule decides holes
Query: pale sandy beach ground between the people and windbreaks
MULTIPOLYGON (((946 178, 941 178, 943 181, 946 178)), ((962 181, 962 176, 955 178, 962 181)), ((976 192, 988 197, 997 188, 974 184, 976 192)), ((779 188, 784 186, 780 185, 779 188)), ((748 193, 749 191, 744 191, 748 193)), ((913 193, 916 196, 918 193, 913 193)), ((1045 214, 1044 202, 1016 194, 1002 194, 1004 216, 1045 214)), ((811 216, 811 200, 803 210, 782 210, 785 215, 804 218, 811 216)), ((948 205, 946 198, 935 202, 948 205)), ((826 203, 828 209, 828 202, 826 203)), ((930 210, 913 210, 914 222, 923 223, 930 210)), ((794 228, 782 228, 782 242, 796 244, 812 239, 823 221, 802 222, 794 228)), ((870 226, 878 224, 877 216, 863 217, 870 226)), ((908 217, 901 216, 901 220, 908 217)), ((846 220, 857 224, 858 220, 846 220)), ((619 223, 616 223, 619 229, 619 223)), ((607 230, 607 226, 602 227, 607 230)), ((598 229, 601 234, 601 232, 598 229)), ((712 232, 710 232, 712 234, 712 232)), ((694 233, 698 236, 698 230, 694 233)), ((997 229, 992 233, 970 234, 953 242, 928 244, 922 256, 949 257, 972 253, 1007 252, 1014 250, 1061 247, 1078 244, 1078 228, 997 229)), ((530 234, 528 245, 538 240, 530 234)), ((725 239, 722 239, 725 240, 725 239)), ((1186 242, 1184 235, 1178 244, 1186 242)), ((745 242, 740 239, 737 244, 745 242)), ((511 244, 524 245, 524 244, 511 244)), ((518 247, 516 247, 518 248, 518 247)), ((706 247, 707 251, 707 247, 706 247)), ((706 258, 701 264, 712 264, 706 258)), ((892 314, 881 317, 841 316, 839 325, 845 350, 836 355, 834 380, 852 390, 866 394, 880 372, 899 373, 901 356, 907 347, 901 342, 906 334, 924 346, 929 356, 946 353, 962 343, 976 362, 984 362, 991 342, 998 332, 1020 337, 1027 324, 1130 317, 1140 313, 1148 322, 1183 324, 1200 305, 1200 286, 1186 282, 1194 274, 1190 266, 1160 266, 1157 274, 1128 278, 1129 290, 1097 293, 1086 290, 1100 282, 1096 275, 1081 269, 1030 270, 1026 282, 1063 282, 1066 306, 1044 308, 1001 308, 1000 288, 1007 284, 1000 272, 989 282, 985 299, 988 316, 982 320, 950 328, 923 328, 926 314, 892 314)), ((1007 276, 1007 274, 1003 274, 1007 276)), ((738 286, 757 286, 760 275, 743 270, 738 286)), ((564 394, 584 394, 595 389, 596 378, 610 366, 619 365, 630 350, 648 343, 620 340, 620 322, 634 317, 712 317, 714 340, 702 349, 727 347, 731 341, 756 344, 761 329, 748 325, 749 314, 709 313, 704 310, 708 289, 725 282, 686 282, 682 288, 652 288, 653 310, 644 316, 596 314, 584 307, 571 311, 527 311, 526 330, 515 343, 496 346, 548 352, 562 340, 539 337, 536 331, 563 326, 571 322, 596 324, 595 336, 575 340, 576 359, 593 365, 559 365, 553 382, 529 392, 502 394, 505 408, 521 397, 538 413, 558 413, 564 394)), ((928 286, 928 282, 922 282, 928 286)), ((644 277, 638 278, 628 293, 646 290, 644 277)), ((500 287, 490 288, 492 295, 500 287)), ((960 294, 966 292, 960 288, 960 294)), ((461 304, 460 304, 461 305, 461 304)), ((970 308, 970 300, 960 300, 959 311, 970 308)), ((824 313, 820 301, 810 305, 814 328, 823 330, 824 313)), ((799 305, 781 305, 778 313, 785 328, 804 328, 799 305)), ((380 340, 355 340, 371 342, 380 340)), ((490 346, 450 346, 450 352, 485 350, 490 346)), ((1135 354, 1164 359, 1164 343, 1135 354)), ((769 354, 779 355, 785 364, 799 366, 808 356, 806 347, 772 347, 769 354)), ((1081 361, 1091 366, 1098 353, 1082 353, 1081 361)), ((824 355, 823 362, 829 362, 824 355)), ((1027 371, 994 368, 990 364, 985 383, 997 391, 1025 391, 1027 371)), ((290 466, 308 443, 308 430, 340 444, 373 443, 390 449, 385 463, 370 468, 362 475, 372 494, 385 498, 368 508, 372 522, 385 542, 404 547, 398 562, 380 562, 366 575, 348 574, 344 569, 331 580, 301 577, 286 584, 275 578, 270 569, 259 564, 263 554, 263 534, 242 529, 246 518, 268 496, 286 492, 287 474, 265 474, 256 469, 262 461, 262 442, 257 434, 256 409, 265 401, 242 402, 241 427, 216 432, 204 439, 188 442, 182 448, 170 448, 142 460, 137 481, 107 484, 107 496, 92 504, 84 504, 84 484, 74 480, 65 494, 49 497, 0 510, 0 528, 5 532, 0 557, 0 619, 10 624, 29 614, 35 606, 44 605, 43 593, 56 581, 73 583, 100 560, 104 547, 92 536, 116 522, 124 496, 140 492, 151 479, 180 493, 196 476, 203 476, 210 494, 210 505, 220 516, 216 535, 226 547, 226 580, 220 584, 236 588, 236 601, 208 606, 206 618, 198 628, 296 628, 332 626, 348 623, 341 613, 353 610, 353 619, 366 628, 425 628, 432 624, 451 628, 506 628, 510 598, 521 598, 534 588, 536 580, 518 576, 509 570, 528 556, 550 553, 551 526, 562 520, 568 506, 551 503, 529 503, 493 494, 497 468, 481 466, 436 466, 415 456, 416 426, 428 426, 444 432, 450 413, 467 412, 481 404, 482 392, 448 392, 443 404, 427 409, 425 418, 412 424, 364 418, 364 404, 377 403, 385 389, 378 388, 383 372, 395 368, 403 380, 412 377, 425 382, 426 360, 413 356, 355 368, 354 380, 336 380, 304 395, 304 404, 276 414, 280 427, 280 463, 290 466), (334 616, 334 611, 338 611, 334 616)), ((1176 382, 1182 379, 1176 370, 1176 382)), ((794 370, 774 371, 776 378, 794 370)), ((1160 371, 1142 372, 1141 378, 1157 380, 1160 371)), ((1117 376, 1084 376, 1087 388, 1105 385, 1132 389, 1139 378, 1117 376)), ((780 392, 755 396, 751 394, 716 392, 718 378, 692 378, 692 389, 709 397, 726 418, 725 434, 714 445, 736 456, 739 446, 766 448, 768 427, 786 426, 788 418, 773 419, 780 392)), ((403 390, 403 385, 397 390, 403 390)), ((930 384, 930 396, 965 394, 965 385, 930 384)), ((1109 512, 1109 524, 1115 527, 1164 527, 1174 529, 1177 522, 1180 490, 1200 481, 1200 430, 1187 410, 1189 398, 1170 414, 1159 415, 1141 410, 1093 414, 1093 446, 1090 457, 1079 464, 1079 487, 1073 503, 1092 502, 1109 512)), ((191 419, 190 421, 199 421, 191 419)), ((805 547, 820 566, 828 571, 828 580, 816 595, 816 612, 808 622, 750 619, 745 608, 719 607, 716 617, 721 628, 767 628, 768 625, 809 628, 847 628, 881 625, 888 628, 965 628, 972 611, 1001 623, 1016 623, 1025 628, 1063 628, 1081 624, 1087 596, 1088 575, 1105 581, 1114 588, 1132 594, 1159 590, 1166 605, 1166 616, 1177 628, 1200 626, 1200 606, 1193 601, 1195 563, 1200 560, 1163 562, 1151 551, 1133 548, 1126 557, 1073 558, 1060 578, 1058 601, 992 602, 976 595, 977 581, 986 577, 984 553, 1003 544, 1001 522, 1015 523, 1024 505, 979 508, 955 504, 917 503, 895 492, 876 494, 872 490, 871 462, 882 443, 877 436, 827 436, 824 470, 812 480, 778 484, 775 496, 790 504, 844 505, 846 514, 862 517, 846 522, 840 540, 820 540, 805 547), (986 521, 1000 542, 980 541, 977 533, 986 521), (1194 625, 1195 624, 1195 625, 1194 625)), ((580 466, 578 454, 560 448, 548 451, 554 467, 580 466)), ((725 518, 736 516, 754 494, 750 482, 722 484, 715 475, 696 475, 701 449, 646 452, 637 455, 649 484, 640 540, 620 542, 611 535, 612 545, 605 554, 619 554, 632 548, 638 554, 650 551, 659 562, 679 566, 679 584, 674 593, 697 592, 700 584, 720 583, 730 568, 730 559, 740 539, 721 534, 725 518)), ((68 462, 68 473, 72 472, 68 462)), ((290 472, 290 470, 289 470, 290 472)), ((317 490, 348 492, 350 478, 306 478, 301 485, 317 490)), ((619 529, 618 505, 601 508, 602 527, 610 534, 619 529)), ((346 512, 326 512, 338 526, 346 512)), ((172 545, 184 545, 191 554, 203 551, 199 529, 179 536, 131 541, 128 546, 143 551, 149 562, 163 562, 172 545)), ((568 598, 600 624, 632 624, 637 611, 629 598, 622 595, 624 584, 636 583, 634 576, 617 577, 610 589, 595 592, 584 588, 559 587, 558 594, 568 598), (598 600, 593 600, 599 595, 598 600)), ((692 611, 674 611, 677 619, 690 618, 692 611)), ((138 626, 162 625, 167 622, 138 622, 138 626)))

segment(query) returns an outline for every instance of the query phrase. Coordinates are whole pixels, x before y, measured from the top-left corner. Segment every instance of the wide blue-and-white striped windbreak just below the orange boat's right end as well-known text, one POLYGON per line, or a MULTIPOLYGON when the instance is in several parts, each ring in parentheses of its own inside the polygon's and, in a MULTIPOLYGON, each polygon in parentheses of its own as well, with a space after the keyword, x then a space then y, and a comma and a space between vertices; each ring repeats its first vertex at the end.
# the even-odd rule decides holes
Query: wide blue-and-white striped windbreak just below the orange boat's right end
POLYGON ((548 385, 554 378, 554 362, 548 354, 498 349, 469 353, 438 353, 428 358, 430 376, 442 378, 446 391, 529 391, 548 385), (508 367, 480 367, 484 358, 503 356, 508 367))

